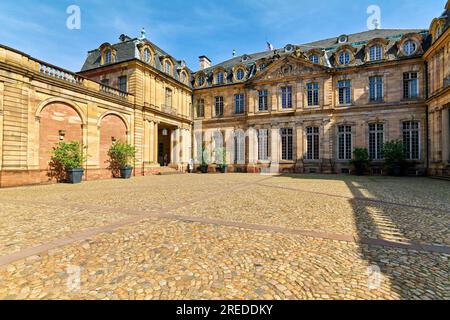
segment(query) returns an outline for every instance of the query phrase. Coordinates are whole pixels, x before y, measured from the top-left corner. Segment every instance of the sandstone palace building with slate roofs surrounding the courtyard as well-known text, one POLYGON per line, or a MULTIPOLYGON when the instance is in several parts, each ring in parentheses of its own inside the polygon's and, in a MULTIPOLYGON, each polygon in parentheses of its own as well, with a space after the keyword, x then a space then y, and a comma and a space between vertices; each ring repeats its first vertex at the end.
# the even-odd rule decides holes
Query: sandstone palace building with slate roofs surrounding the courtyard
POLYGON ((85 179, 110 178, 114 141, 134 175, 187 169, 349 173, 367 148, 402 140, 411 175, 450 174, 450 1, 428 30, 377 29, 249 53, 212 65, 121 35, 78 73, 0 45, 0 187, 52 182, 51 150, 80 141, 85 179), (218 152, 227 150, 226 153, 218 152), (224 155, 224 159, 222 155, 224 155))

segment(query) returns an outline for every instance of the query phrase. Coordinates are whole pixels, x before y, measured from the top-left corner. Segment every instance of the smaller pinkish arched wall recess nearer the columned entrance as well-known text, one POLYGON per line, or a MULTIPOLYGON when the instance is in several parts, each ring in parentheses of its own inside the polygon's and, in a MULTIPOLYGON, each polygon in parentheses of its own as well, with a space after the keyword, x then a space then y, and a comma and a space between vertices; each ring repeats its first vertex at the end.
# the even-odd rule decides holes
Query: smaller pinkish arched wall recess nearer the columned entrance
POLYGON ((127 141, 127 126, 115 114, 108 114, 100 122, 100 171, 102 178, 110 178, 112 172, 109 168, 108 151, 114 141, 127 141))

